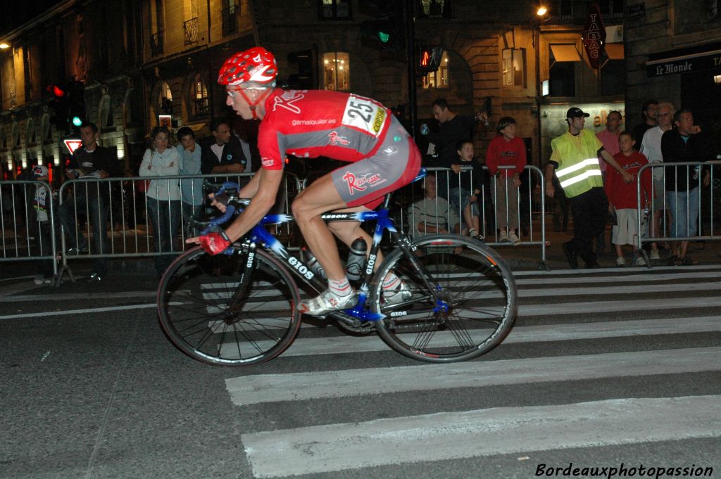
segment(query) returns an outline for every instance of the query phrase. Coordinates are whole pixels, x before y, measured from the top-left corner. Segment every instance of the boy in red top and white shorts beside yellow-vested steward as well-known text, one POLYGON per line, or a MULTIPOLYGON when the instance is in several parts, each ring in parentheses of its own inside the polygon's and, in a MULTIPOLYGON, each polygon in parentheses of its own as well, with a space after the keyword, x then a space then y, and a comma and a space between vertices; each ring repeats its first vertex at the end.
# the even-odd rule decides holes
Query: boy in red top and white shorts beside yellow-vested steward
MULTIPOLYGON (((619 135, 619 148, 621 151, 614 155, 619 165, 633 176, 638 177, 638 172, 648 161, 642 153, 634 150, 635 140, 633 133, 624 131, 619 135)), ((641 182, 641 206, 645 209, 653 198, 651 192, 651 171, 645 169, 639 181, 641 182)), ((616 264, 624 266, 623 246, 630 244, 638 253, 640 246, 638 230, 638 201, 636 182, 624 183, 621 175, 616 171, 610 171, 606 177, 606 196, 609 197, 609 212, 616 216, 616 225, 611 228, 611 243, 616 245, 616 264)), ((645 266, 643 256, 636 257, 636 266, 645 266)))

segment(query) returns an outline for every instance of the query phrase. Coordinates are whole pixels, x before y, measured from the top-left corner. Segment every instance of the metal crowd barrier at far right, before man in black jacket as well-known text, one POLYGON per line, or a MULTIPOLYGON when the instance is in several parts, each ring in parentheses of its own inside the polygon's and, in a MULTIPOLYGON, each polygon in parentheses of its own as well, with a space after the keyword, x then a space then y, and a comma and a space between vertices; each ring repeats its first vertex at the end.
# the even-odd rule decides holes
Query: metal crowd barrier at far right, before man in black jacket
MULTIPOLYGON (((721 155, 720 155, 721 156, 721 155)), ((717 157, 718 158, 718 157, 717 157)), ((663 241, 719 241, 721 234, 718 223, 721 223, 721 161, 694 161, 690 163, 650 163, 639 170, 636 182, 637 228, 639 231, 637 247, 647 243, 663 241), (656 207, 652 207, 645 221, 642 203, 642 184, 640 178, 644 171, 651 170, 651 196, 656 197, 656 207), (673 169, 673 188, 667 189, 666 179, 673 169), (663 174, 658 174, 658 171, 663 174), (704 171, 709 171, 709 187, 703 184, 704 171), (686 179, 678 182, 678 174, 686 179), (660 228, 653 228, 654 210, 662 210, 660 228), (672 218, 685 217, 686 224, 678 225, 672 218), (671 230, 671 224, 674 225, 671 230), (693 230, 696 234, 691 234, 693 230)), ((676 254, 671 251, 671 256, 676 254)), ((647 261, 651 267, 650 261, 647 261)))

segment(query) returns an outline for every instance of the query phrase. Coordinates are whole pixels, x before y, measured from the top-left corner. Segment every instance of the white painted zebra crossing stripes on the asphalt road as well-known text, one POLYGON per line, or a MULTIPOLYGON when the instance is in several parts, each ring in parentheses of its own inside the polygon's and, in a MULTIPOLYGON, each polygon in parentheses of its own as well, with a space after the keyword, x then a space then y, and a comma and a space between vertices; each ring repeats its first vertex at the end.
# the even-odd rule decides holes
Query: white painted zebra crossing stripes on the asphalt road
MULTIPOLYGON (((563 404, 545 404, 540 397, 526 406, 444 409, 443 398, 460 390, 482 396, 501 386, 521 390, 543 383, 633 378, 654 382, 655 377, 721 371, 721 346, 693 342, 721 332, 721 315, 717 315, 721 298, 713 294, 721 286, 718 267, 634 269, 630 274, 608 269, 600 276, 598 272, 518 274, 516 327, 480 361, 409 365, 397 355, 392 356, 398 358, 396 364, 383 367, 356 362, 353 369, 317 369, 309 361, 309 369, 298 372, 244 370, 242 376, 229 377, 226 389, 236 407, 279 415, 265 428, 257 426, 241 436, 253 475, 283 478, 350 470, 362 475, 368 467, 720 438, 721 395, 704 395, 700 387, 700 392, 668 397, 619 395, 563 404), (568 295, 593 301, 571 300, 568 295), (694 312, 685 315, 691 309, 694 312), (677 343, 681 335, 691 336, 677 343), (652 338, 663 346, 640 347, 652 338), (556 346, 610 340, 622 341, 623 349, 579 353, 556 346), (526 348, 520 350, 521 357, 503 358, 503 351, 524 344, 555 354, 536 357, 529 352, 535 349, 526 348), (337 401, 420 393, 438 396, 435 411, 415 414, 409 408, 407 414, 393 417, 315 422, 324 417, 323 408, 337 401), (291 414, 286 422, 289 410, 312 412, 302 416, 305 421, 291 414)), ((334 328, 313 334, 315 328, 307 325, 308 334, 276 360, 297 363, 331 354, 350 357, 389 351, 376 336, 343 336, 334 328)))

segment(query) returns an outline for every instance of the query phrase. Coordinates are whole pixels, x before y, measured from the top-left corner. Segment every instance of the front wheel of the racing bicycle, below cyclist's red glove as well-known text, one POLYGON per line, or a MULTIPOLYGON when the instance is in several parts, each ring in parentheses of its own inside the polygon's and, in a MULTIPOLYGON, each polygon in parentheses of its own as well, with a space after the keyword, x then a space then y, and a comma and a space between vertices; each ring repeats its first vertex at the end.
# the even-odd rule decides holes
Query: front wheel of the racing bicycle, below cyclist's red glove
POLYGON ((291 274, 270 254, 255 251, 256 267, 239 293, 247 254, 209 256, 190 249, 167 269, 158 287, 160 324, 194 359, 239 366, 273 359, 291 345, 301 315, 291 274))

